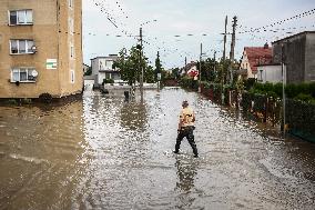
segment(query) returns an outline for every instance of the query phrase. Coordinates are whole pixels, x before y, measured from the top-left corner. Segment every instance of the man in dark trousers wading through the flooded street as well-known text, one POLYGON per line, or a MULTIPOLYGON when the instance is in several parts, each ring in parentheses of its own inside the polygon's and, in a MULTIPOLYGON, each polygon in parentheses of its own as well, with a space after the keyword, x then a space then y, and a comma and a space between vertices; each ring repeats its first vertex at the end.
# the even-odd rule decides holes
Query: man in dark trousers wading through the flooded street
POLYGON ((194 157, 197 158, 197 149, 196 149, 196 143, 194 141, 194 121, 195 121, 195 113, 192 108, 189 107, 187 101, 183 101, 182 103, 182 111, 180 113, 180 122, 179 122, 179 130, 177 130, 177 139, 176 139, 176 144, 175 144, 175 151, 174 153, 179 153, 181 142, 184 139, 184 137, 189 140, 193 152, 194 157))

